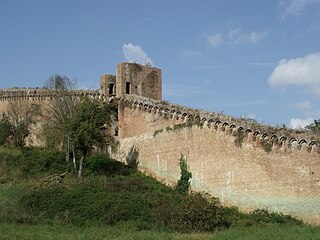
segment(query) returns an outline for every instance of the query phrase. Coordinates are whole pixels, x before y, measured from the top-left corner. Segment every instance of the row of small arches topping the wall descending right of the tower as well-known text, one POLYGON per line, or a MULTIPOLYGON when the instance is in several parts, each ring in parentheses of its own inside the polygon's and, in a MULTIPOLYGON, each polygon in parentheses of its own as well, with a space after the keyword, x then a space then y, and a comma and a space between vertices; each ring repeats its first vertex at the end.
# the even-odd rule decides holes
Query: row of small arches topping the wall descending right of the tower
POLYGON ((261 139, 279 139, 280 142, 283 142, 285 139, 288 140, 288 144, 290 148, 292 147, 293 142, 297 142, 297 144, 293 144, 294 148, 300 148, 301 142, 305 142, 307 145, 312 143, 319 145, 313 139, 318 139, 319 136, 315 134, 311 134, 306 131, 296 131, 291 129, 278 129, 275 127, 271 127, 268 125, 263 125, 260 123, 252 122, 251 120, 246 121, 246 119, 234 118, 224 114, 217 114, 212 112, 207 112, 203 110, 197 110, 192 108, 187 108, 180 105, 173 104, 163 104, 161 101, 156 101, 152 99, 147 99, 139 96, 128 95, 125 96, 120 102, 124 101, 125 106, 134 108, 135 106, 140 106, 141 110, 149 111, 153 114, 158 114, 159 117, 166 117, 169 112, 179 112, 181 118, 177 119, 182 122, 192 122, 199 123, 203 122, 203 124, 214 126, 216 130, 226 132, 224 129, 226 126, 229 126, 229 129, 232 131, 236 130, 244 130, 246 133, 253 132, 252 141, 256 142, 257 136, 261 139))

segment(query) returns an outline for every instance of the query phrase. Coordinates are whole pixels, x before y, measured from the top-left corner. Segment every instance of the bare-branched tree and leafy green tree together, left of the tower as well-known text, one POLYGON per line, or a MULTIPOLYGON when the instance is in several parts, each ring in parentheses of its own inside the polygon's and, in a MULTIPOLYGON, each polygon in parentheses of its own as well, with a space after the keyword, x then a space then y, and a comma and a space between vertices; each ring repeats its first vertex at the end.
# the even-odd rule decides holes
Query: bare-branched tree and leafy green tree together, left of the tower
POLYGON ((71 155, 73 171, 82 178, 83 163, 92 149, 116 145, 110 130, 115 111, 107 102, 98 99, 75 99, 70 94, 73 87, 74 83, 65 76, 55 75, 48 80, 47 88, 56 97, 46 113, 44 136, 48 148, 63 146, 66 161, 71 155))

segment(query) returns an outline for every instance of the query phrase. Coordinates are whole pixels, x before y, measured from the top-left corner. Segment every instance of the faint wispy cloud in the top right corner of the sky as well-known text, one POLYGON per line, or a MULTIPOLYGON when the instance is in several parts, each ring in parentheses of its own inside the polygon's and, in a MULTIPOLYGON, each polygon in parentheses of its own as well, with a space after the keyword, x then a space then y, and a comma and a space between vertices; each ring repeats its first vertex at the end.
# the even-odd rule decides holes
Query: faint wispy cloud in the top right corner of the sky
POLYGON ((299 16, 302 14, 304 9, 316 2, 317 0, 290 0, 290 1, 282 1, 281 4, 283 6, 281 18, 285 18, 289 15, 299 16))

